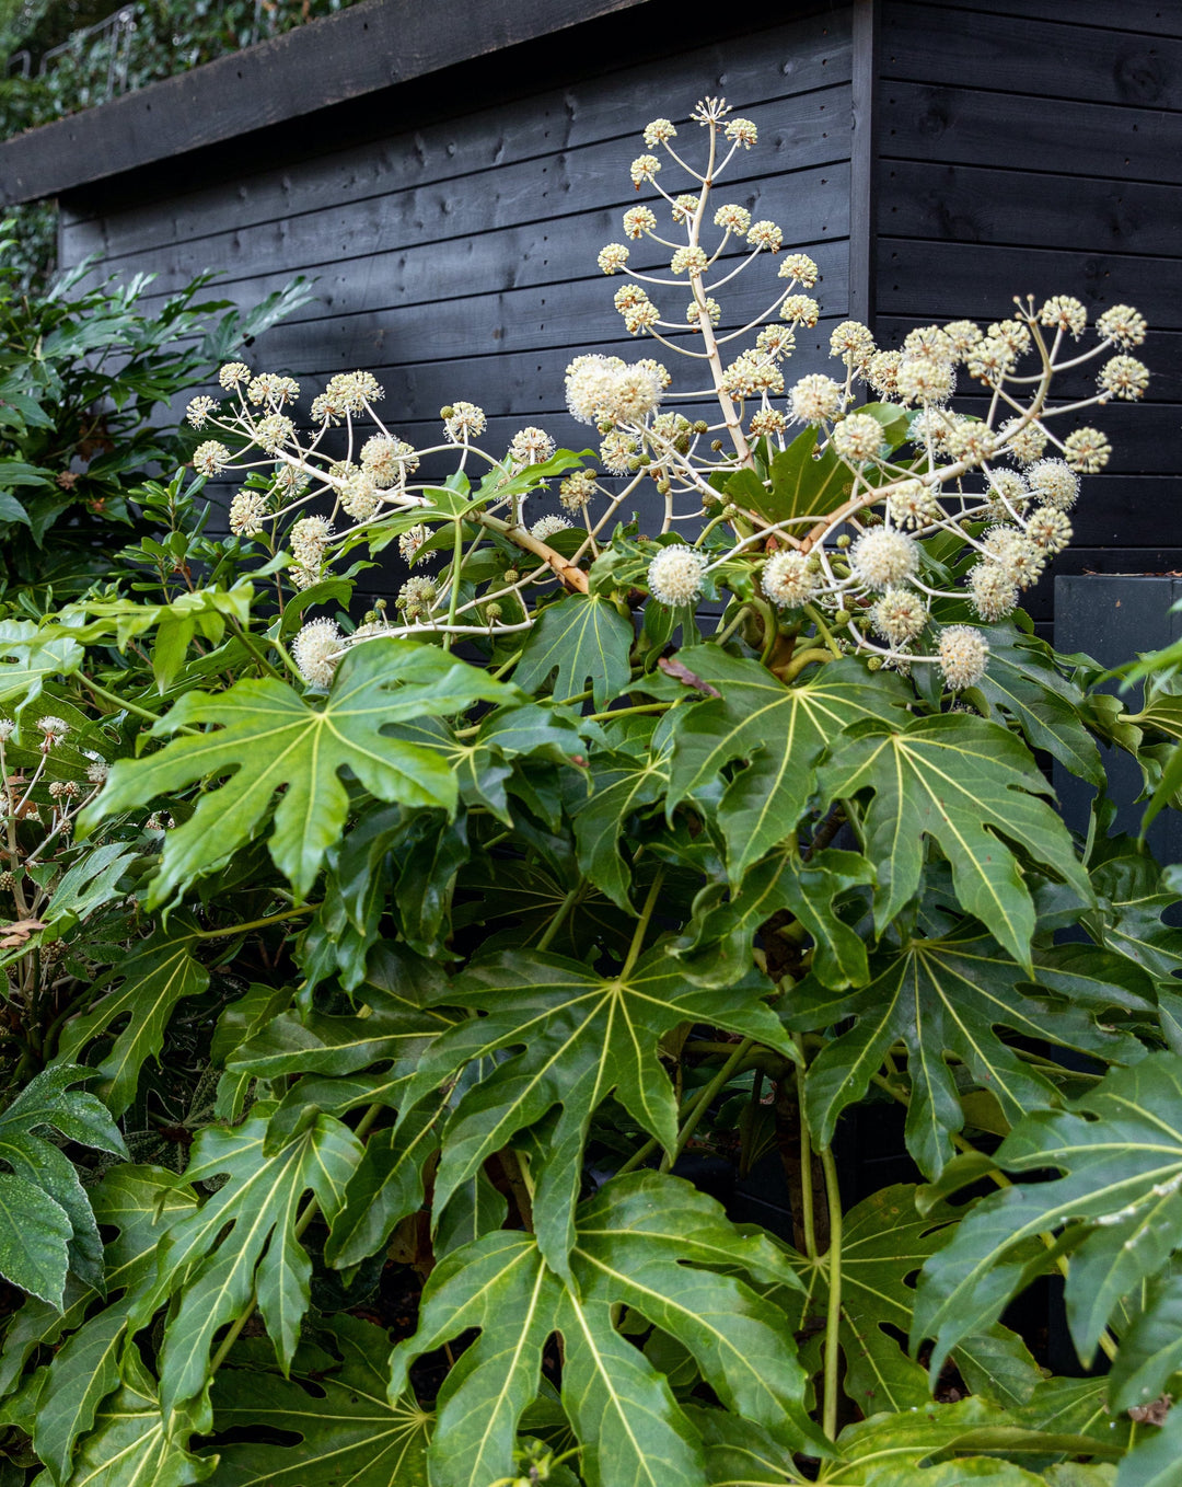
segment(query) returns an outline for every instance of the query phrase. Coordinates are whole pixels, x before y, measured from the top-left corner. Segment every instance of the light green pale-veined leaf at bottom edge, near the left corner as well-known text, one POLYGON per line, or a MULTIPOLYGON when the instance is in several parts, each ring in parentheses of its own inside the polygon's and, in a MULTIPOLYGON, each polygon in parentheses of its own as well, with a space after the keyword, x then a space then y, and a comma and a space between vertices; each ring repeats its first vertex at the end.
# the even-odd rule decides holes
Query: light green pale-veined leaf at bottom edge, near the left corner
POLYGON ((167 1414, 134 1347, 123 1355, 122 1373, 122 1386, 98 1408, 64 1487, 192 1487, 205 1481, 216 1460, 202 1460, 186 1447, 195 1430, 208 1433, 208 1405, 167 1414))

